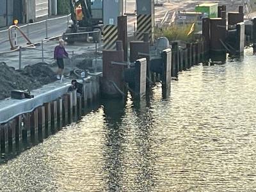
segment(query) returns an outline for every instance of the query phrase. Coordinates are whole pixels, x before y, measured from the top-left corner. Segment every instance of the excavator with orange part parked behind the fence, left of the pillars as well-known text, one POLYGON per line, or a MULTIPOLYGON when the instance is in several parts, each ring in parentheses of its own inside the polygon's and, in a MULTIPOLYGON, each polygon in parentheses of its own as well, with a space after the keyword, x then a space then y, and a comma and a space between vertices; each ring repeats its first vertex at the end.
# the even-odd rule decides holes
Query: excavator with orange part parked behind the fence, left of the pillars
POLYGON ((63 35, 65 42, 99 42, 103 28, 102 0, 70 0, 72 24, 63 35), (95 33, 84 33, 95 31, 95 33))

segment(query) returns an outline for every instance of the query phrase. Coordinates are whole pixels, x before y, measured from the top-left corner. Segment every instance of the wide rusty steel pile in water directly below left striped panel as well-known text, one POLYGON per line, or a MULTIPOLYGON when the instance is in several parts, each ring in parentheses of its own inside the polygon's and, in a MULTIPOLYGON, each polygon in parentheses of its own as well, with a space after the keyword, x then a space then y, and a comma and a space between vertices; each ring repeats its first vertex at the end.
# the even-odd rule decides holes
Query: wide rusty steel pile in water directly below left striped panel
MULTIPOLYGON (((118 41, 116 47, 122 47, 122 42, 118 41)), ((103 78, 102 93, 107 97, 124 97, 124 69, 127 65, 124 62, 123 50, 104 50, 102 52, 103 78), (113 63, 114 62, 114 63, 113 63), (116 64, 115 64, 116 63, 116 64)))

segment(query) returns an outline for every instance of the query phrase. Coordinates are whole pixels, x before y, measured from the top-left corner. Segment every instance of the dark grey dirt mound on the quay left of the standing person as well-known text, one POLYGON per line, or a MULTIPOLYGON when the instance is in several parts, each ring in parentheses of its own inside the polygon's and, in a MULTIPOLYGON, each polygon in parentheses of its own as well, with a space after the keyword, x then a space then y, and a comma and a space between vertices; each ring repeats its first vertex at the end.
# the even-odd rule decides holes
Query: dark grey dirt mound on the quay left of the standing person
POLYGON ((55 74, 45 63, 29 65, 24 70, 0 63, 0 100, 10 97, 12 90, 33 90, 53 81, 55 74))

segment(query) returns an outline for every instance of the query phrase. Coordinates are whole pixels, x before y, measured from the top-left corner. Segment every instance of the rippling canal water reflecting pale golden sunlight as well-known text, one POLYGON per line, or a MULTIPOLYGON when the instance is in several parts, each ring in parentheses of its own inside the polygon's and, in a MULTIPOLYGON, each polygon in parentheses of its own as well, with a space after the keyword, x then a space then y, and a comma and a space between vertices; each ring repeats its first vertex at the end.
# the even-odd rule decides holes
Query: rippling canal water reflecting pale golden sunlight
POLYGON ((255 191, 256 57, 196 66, 163 99, 103 100, 0 166, 1 191, 255 191))

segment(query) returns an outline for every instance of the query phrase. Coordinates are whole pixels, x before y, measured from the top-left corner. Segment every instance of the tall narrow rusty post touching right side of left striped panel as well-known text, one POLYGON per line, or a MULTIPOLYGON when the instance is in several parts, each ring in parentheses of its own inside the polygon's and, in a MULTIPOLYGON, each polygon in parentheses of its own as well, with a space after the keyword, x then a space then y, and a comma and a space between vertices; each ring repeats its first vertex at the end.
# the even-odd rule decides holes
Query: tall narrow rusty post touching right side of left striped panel
POLYGON ((128 36, 127 36, 127 16, 126 15, 118 17, 117 26, 118 26, 117 40, 121 40, 123 42, 124 61, 128 61, 128 36))

